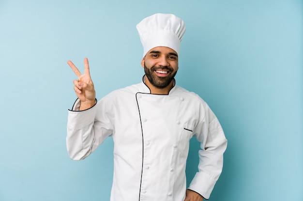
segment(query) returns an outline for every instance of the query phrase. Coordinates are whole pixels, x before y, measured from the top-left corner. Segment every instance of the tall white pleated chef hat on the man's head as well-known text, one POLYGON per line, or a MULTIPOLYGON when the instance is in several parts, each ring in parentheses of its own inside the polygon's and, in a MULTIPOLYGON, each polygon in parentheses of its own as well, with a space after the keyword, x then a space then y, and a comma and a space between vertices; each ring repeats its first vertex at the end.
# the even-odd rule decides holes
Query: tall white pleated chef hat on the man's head
POLYGON ((143 57, 157 46, 172 48, 179 54, 180 42, 185 33, 183 20, 172 14, 154 14, 136 26, 143 45, 143 57))

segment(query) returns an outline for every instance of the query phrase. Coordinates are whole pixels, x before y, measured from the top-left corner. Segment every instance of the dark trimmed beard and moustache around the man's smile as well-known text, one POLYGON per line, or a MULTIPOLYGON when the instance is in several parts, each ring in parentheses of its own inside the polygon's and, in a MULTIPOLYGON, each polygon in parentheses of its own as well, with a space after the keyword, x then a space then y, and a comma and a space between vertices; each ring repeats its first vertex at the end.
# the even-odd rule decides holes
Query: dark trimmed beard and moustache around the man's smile
POLYGON ((145 62, 144 62, 144 72, 148 80, 151 82, 151 84, 158 89, 166 88, 177 74, 177 71, 174 72, 174 69, 169 68, 167 66, 160 66, 160 67, 152 66, 152 68, 149 69, 145 65, 145 62), (154 73, 155 70, 168 70, 171 74, 166 77, 159 77, 154 73))

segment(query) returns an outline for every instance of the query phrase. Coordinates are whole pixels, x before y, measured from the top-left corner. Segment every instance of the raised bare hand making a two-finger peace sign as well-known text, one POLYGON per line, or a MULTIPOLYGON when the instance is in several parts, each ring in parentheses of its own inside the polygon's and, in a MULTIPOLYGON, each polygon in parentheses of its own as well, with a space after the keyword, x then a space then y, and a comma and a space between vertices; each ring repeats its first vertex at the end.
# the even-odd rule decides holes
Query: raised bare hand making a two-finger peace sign
POLYGON ((90 75, 89 60, 84 59, 84 74, 81 74, 73 62, 68 61, 78 79, 74 80, 74 90, 81 101, 80 110, 91 108, 95 105, 96 92, 90 75))

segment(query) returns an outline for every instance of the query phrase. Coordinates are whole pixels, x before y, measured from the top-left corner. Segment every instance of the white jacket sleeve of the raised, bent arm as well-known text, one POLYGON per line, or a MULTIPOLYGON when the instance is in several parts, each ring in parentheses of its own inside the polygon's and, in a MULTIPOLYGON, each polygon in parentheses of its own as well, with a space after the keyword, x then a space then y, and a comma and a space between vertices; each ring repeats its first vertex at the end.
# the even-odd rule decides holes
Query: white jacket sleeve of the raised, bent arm
POLYGON ((106 113, 104 105, 101 100, 92 108, 76 111, 77 100, 73 110, 68 111, 66 147, 71 159, 86 158, 113 133, 110 114, 106 113))

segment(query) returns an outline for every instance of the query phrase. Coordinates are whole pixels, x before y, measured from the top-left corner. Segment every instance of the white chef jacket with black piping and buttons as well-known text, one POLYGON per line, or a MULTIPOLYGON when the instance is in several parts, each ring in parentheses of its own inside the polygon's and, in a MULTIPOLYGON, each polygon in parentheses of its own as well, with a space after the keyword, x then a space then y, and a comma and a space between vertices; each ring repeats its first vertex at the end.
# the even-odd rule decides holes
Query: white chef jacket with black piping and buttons
POLYGON ((111 136, 114 176, 110 201, 184 201, 189 141, 201 142, 198 172, 189 189, 209 199, 221 174, 227 139, 209 106, 174 86, 151 94, 142 81, 109 93, 90 109, 69 110, 67 150, 84 159, 111 136))

